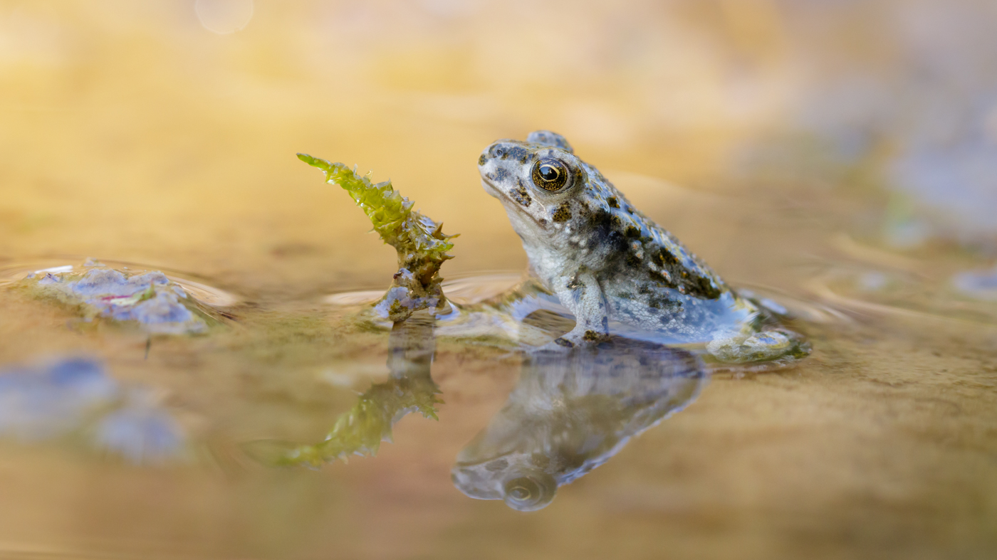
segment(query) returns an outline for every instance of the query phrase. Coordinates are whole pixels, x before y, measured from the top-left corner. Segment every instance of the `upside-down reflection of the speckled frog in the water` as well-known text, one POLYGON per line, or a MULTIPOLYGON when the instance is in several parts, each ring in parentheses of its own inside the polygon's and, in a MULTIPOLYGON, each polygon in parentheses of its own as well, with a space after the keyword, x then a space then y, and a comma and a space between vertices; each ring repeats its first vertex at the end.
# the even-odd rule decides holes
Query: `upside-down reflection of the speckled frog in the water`
POLYGON ((688 352, 620 338, 527 354, 505 407, 458 455, 454 484, 513 509, 544 507, 557 486, 691 403, 706 379, 688 352))

